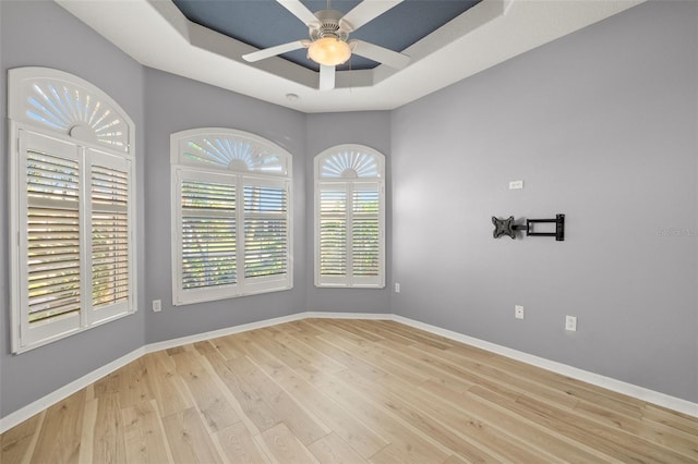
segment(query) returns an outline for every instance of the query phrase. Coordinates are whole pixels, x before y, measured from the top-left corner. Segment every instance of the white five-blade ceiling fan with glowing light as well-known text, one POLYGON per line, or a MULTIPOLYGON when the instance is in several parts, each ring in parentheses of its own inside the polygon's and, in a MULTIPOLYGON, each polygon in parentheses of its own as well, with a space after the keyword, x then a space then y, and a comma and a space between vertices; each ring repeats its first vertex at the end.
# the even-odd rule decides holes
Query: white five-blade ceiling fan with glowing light
POLYGON ((335 66, 345 63, 352 53, 396 70, 405 68, 410 57, 363 40, 348 40, 349 34, 385 13, 402 0, 363 0, 353 10, 342 14, 330 8, 311 12, 300 0, 276 0, 301 20, 309 29, 310 40, 294 40, 243 54, 249 62, 264 60, 289 51, 308 49, 308 58, 320 64, 320 89, 335 88, 335 66))

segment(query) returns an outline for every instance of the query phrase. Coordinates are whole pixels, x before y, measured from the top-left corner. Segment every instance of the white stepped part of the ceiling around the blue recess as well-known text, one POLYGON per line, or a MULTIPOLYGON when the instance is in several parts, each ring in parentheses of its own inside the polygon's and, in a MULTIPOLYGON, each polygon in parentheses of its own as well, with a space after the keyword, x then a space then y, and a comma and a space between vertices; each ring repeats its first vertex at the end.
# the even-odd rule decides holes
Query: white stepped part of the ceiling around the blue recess
MULTIPOLYGON (((402 52, 401 71, 318 74, 186 20, 170 0, 56 0, 141 64, 303 112, 390 110, 645 0, 483 0, 402 52), (288 94, 298 96, 296 99, 288 94)), ((274 1, 274 0, 258 0, 274 1)))

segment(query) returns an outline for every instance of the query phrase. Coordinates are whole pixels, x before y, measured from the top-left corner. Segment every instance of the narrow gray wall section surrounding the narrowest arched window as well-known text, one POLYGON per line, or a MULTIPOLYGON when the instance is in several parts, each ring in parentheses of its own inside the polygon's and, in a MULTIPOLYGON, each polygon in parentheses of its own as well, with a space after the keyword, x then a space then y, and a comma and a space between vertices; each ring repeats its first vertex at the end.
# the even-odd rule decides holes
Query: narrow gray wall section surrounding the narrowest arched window
POLYGON ((306 120, 306 278, 308 310, 341 313, 388 313, 389 283, 385 289, 318 289, 314 284, 314 158, 327 148, 361 144, 385 155, 386 172, 386 282, 390 282, 390 113, 388 111, 309 114, 306 120))

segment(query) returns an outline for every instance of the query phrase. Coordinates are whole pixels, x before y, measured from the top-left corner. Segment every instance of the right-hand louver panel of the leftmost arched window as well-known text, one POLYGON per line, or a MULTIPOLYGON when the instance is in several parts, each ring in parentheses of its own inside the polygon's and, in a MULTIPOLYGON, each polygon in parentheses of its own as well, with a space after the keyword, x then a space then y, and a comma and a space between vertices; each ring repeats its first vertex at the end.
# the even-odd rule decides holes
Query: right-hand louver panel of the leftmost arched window
POLYGON ((93 308, 129 300, 129 173, 93 166, 93 308))

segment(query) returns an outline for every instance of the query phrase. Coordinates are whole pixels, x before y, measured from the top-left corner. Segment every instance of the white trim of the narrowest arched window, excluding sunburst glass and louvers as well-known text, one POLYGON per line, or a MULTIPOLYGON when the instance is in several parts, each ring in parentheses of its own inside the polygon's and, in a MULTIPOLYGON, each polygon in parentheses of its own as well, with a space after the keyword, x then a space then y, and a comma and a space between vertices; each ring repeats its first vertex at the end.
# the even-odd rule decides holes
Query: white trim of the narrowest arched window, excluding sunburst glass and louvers
MULTIPOLYGON (((385 156, 378 150, 360 144, 337 145, 322 151, 315 156, 313 162, 313 254, 314 254, 314 284, 316 288, 350 288, 350 289, 384 289, 385 288, 385 156), (376 172, 371 175, 362 175, 356 173, 353 176, 336 175, 332 178, 322 176, 323 163, 330 157, 342 152, 360 152, 372 156, 376 162, 376 172), (321 274, 321 222, 320 206, 321 192, 323 186, 336 186, 337 190, 345 190, 348 198, 356 192, 354 187, 360 185, 376 185, 378 192, 378 276, 375 278, 358 277, 347 273, 344 277, 327 277, 321 274)), ((347 205, 347 209, 349 206, 347 205)), ((345 212, 347 218, 347 227, 349 227, 349 218, 351 211, 345 212)), ((352 252, 350 244, 346 244, 347 259, 351 261, 352 252)))

